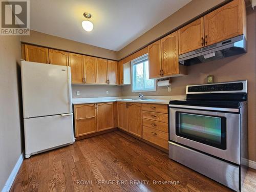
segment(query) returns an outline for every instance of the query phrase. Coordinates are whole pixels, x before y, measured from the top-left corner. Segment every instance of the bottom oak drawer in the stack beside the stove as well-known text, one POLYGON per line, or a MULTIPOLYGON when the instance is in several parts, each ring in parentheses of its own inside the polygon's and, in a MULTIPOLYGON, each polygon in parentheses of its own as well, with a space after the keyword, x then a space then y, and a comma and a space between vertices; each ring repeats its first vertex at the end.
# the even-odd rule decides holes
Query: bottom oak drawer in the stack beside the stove
POLYGON ((143 126, 143 139, 168 149, 168 133, 143 126))

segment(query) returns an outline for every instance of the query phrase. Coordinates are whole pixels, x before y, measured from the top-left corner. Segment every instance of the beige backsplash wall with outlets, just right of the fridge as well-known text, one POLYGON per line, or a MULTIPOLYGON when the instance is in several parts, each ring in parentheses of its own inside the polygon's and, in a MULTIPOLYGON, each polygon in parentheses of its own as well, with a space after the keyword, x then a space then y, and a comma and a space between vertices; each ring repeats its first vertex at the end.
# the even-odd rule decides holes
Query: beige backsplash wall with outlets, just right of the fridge
POLYGON ((86 97, 117 97, 122 96, 121 86, 87 86, 80 84, 72 84, 72 98, 86 97), (76 95, 76 91, 80 91, 80 95, 76 95), (109 95, 106 95, 109 91, 109 95))

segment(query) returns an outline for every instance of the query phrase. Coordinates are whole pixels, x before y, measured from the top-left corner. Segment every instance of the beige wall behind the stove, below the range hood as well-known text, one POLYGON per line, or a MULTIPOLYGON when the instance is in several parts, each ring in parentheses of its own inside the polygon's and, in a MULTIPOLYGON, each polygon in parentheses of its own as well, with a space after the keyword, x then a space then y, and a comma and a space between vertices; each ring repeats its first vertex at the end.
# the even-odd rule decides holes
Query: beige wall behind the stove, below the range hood
MULTIPOLYGON (((144 92, 144 95, 184 95, 187 84, 206 83, 207 75, 214 75, 215 82, 248 80, 248 124, 249 159, 256 161, 256 12, 247 8, 247 48, 246 54, 201 63, 187 67, 188 75, 172 78, 172 92, 167 88, 158 88, 157 92, 144 92)), ((138 95, 131 92, 131 86, 122 89, 123 96, 138 95)))

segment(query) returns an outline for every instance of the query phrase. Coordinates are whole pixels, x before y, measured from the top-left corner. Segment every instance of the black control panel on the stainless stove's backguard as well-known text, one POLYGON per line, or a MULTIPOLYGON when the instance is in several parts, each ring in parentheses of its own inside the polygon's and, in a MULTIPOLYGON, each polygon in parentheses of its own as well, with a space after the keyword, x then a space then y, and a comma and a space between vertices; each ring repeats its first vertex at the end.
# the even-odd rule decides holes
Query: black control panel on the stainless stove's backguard
POLYGON ((230 82, 221 84, 204 84, 199 86, 187 86, 187 93, 195 92, 222 92, 222 91, 242 91, 243 82, 230 82))

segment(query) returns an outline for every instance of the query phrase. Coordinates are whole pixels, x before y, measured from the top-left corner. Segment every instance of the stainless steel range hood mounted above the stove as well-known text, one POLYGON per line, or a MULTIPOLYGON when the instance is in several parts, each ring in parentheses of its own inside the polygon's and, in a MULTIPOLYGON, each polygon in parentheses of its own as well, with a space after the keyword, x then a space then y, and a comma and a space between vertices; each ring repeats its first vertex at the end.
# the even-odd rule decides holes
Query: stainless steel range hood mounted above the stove
POLYGON ((217 44, 179 55, 179 62, 182 65, 190 66, 241 53, 246 53, 246 39, 244 35, 233 37, 218 42, 217 44))

